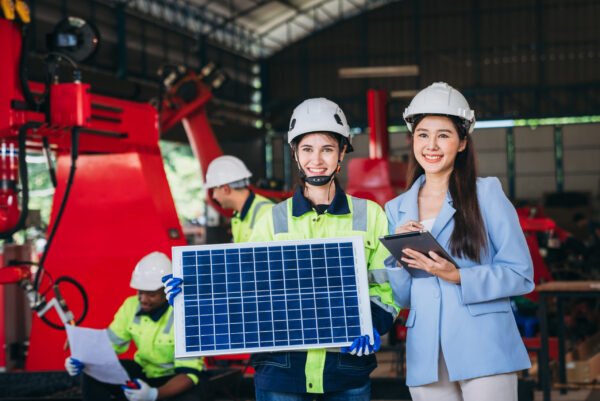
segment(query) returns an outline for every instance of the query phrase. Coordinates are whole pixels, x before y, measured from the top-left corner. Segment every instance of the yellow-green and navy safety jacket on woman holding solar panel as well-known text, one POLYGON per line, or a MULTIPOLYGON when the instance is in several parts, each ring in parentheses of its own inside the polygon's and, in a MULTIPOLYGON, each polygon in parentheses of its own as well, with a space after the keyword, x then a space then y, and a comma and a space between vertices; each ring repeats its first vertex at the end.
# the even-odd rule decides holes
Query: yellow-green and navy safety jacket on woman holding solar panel
MULTIPOLYGON (((369 295, 372 304, 376 305, 372 307, 373 324, 381 334, 384 334, 399 312, 384 268, 384 261, 390 254, 378 239, 386 235, 387 230, 386 215, 374 202, 346 195, 338 188, 327 211, 318 214, 299 188, 293 198, 275 205, 272 212, 266 214, 256 224, 250 241, 362 236, 369 277, 369 295)), ((275 355, 278 353, 261 354, 254 358, 255 385, 269 391, 280 391, 285 388, 288 392, 342 391, 355 387, 361 380, 368 380, 370 371, 376 366, 374 357, 370 366, 367 366, 364 361, 369 357, 339 353, 336 355, 326 351, 339 350, 311 349, 302 353, 306 355, 303 372, 295 373, 285 372, 285 369, 294 369, 293 360, 298 358, 295 354, 300 353, 290 353, 287 359, 275 355), (332 361, 334 358, 336 360, 332 361), (302 376, 305 377, 305 383, 300 388, 298 378, 302 376)))

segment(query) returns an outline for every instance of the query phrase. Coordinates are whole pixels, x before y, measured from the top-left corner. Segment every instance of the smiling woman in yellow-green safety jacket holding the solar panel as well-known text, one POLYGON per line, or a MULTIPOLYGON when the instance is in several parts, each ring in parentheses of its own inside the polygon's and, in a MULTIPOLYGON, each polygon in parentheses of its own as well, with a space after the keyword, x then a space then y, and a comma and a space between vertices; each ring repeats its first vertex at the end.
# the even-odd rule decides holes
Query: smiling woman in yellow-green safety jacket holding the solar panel
MULTIPOLYGON (((378 238, 387 233, 383 209, 374 202, 347 195, 335 179, 346 153, 352 151, 343 111, 324 98, 296 107, 288 142, 302 185, 293 197, 276 205, 255 225, 251 242, 362 236, 369 275, 374 338, 362 336, 343 349, 310 349, 254 354, 257 401, 368 401, 369 374, 377 366, 374 353, 380 333, 398 314, 385 272, 389 253, 378 238)), ((167 281, 170 298, 179 291, 167 281)))

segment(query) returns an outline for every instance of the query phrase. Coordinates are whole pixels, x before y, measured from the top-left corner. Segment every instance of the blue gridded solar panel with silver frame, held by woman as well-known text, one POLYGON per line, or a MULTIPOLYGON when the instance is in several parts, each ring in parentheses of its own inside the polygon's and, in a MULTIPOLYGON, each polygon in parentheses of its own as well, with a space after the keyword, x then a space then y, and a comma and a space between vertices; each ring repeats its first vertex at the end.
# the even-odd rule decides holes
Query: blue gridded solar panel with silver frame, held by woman
POLYGON ((173 274, 177 357, 373 336, 362 237, 174 247, 173 274))

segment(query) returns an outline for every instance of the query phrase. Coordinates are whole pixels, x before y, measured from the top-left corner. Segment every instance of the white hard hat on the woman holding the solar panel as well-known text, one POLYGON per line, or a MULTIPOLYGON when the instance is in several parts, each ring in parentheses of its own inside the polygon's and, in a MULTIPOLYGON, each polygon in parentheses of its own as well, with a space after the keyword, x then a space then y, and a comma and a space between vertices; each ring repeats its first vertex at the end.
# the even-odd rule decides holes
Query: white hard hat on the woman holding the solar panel
POLYGON ((324 97, 306 99, 294 109, 290 119, 288 143, 300 135, 331 132, 348 140, 346 152, 352 151, 350 127, 340 106, 324 97))

